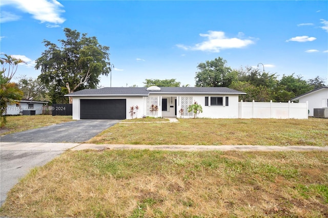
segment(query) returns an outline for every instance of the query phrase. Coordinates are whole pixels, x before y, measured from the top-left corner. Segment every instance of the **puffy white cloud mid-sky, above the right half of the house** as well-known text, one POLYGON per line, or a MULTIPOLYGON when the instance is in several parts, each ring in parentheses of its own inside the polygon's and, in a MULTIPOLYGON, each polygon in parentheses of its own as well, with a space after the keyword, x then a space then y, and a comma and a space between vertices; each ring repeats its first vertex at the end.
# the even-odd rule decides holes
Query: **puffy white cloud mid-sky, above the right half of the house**
POLYGON ((243 36, 241 32, 238 33, 239 38, 228 38, 225 33, 221 31, 208 31, 208 34, 200 33, 199 35, 207 39, 194 46, 185 46, 182 44, 176 46, 184 50, 220 52, 221 49, 243 48, 254 43, 251 39, 241 39, 243 36))

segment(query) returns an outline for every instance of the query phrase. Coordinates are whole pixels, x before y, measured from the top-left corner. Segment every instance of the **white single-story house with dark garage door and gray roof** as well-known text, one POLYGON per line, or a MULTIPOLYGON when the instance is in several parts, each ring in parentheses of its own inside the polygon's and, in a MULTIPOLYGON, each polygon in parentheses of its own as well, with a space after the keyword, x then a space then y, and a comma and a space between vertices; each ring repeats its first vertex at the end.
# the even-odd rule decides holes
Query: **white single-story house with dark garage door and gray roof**
POLYGON ((192 118, 188 106, 195 101, 202 106, 199 118, 238 118, 238 95, 245 94, 224 87, 162 87, 85 89, 65 96, 72 97, 73 119, 131 119, 134 115, 192 118), (158 111, 151 112, 152 105, 158 111))

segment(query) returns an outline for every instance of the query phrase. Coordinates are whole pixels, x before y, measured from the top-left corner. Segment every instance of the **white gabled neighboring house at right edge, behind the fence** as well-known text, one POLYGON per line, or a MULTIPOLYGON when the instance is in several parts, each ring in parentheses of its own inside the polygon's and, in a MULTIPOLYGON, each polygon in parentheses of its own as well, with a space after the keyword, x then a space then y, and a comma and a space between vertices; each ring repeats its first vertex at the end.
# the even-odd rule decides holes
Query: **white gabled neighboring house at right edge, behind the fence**
POLYGON ((314 108, 328 108, 328 86, 297 96, 292 101, 309 102, 309 116, 313 117, 314 108))

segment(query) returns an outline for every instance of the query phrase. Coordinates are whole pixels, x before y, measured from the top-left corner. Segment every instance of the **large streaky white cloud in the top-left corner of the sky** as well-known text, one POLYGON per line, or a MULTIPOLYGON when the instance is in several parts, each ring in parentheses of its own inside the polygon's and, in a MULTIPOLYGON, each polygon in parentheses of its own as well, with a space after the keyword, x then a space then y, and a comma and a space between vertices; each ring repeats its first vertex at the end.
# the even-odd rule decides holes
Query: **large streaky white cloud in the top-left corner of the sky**
MULTIPOLYGON (((52 24, 62 24, 65 21, 65 18, 60 16, 61 13, 65 12, 65 10, 61 9, 61 7, 64 6, 56 0, 11 0, 2 1, 1 5, 13 5, 23 12, 32 14, 33 18, 40 20, 41 23, 49 22, 52 24)), ((11 14, 11 16, 16 17, 16 19, 8 21, 17 20, 17 15, 11 14)))

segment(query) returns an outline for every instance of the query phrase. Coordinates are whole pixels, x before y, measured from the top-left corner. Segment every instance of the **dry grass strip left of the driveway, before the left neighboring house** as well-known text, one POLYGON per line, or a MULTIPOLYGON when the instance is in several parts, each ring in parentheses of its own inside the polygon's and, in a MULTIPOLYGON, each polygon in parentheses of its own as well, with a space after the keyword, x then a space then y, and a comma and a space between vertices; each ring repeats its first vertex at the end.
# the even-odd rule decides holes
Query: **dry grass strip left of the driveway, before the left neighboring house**
POLYGON ((52 116, 52 115, 35 115, 35 116, 8 116, 7 125, 4 128, 6 132, 1 135, 22 132, 28 129, 49 126, 57 123, 73 121, 72 116, 52 116))

